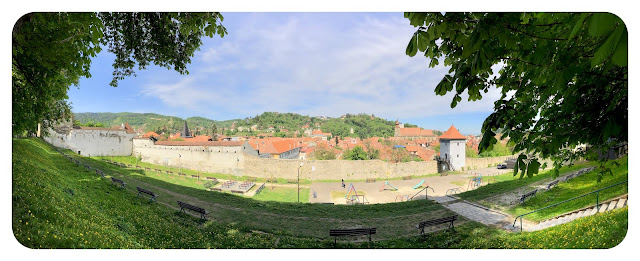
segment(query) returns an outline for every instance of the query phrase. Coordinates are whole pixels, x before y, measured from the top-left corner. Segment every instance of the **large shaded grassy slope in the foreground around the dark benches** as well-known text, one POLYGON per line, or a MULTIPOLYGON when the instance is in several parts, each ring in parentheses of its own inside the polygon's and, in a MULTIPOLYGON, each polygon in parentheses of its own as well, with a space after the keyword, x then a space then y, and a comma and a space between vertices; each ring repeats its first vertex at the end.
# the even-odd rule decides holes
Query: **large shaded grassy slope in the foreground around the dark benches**
MULTIPOLYGON (((434 213, 450 214, 428 201, 363 206, 262 202, 156 180, 153 184, 162 193, 158 203, 148 204, 136 199, 131 187, 152 186, 151 180, 155 179, 99 161, 80 160, 125 179, 127 190, 117 189, 108 180, 69 162, 42 141, 13 140, 12 225, 19 242, 32 248, 323 248, 333 247, 333 240, 326 236, 328 228, 366 224, 377 225, 379 234, 374 238, 393 238, 375 242, 372 247, 608 248, 623 239, 627 228, 625 208, 550 230, 522 234, 488 229, 463 219, 456 223, 457 233, 439 232, 423 241, 413 236, 417 231, 411 215, 428 219, 434 213), (184 195, 190 200, 219 204, 207 208, 213 210, 213 221, 200 222, 178 214, 175 199, 184 195), (267 228, 267 233, 255 231, 260 226, 267 228), (313 231, 319 231, 317 237, 304 236, 313 231), (569 233, 581 236, 559 241, 569 233), (409 237, 402 238, 406 236, 409 237), (527 245, 524 240, 539 243, 527 245)), ((367 246, 338 244, 338 247, 367 246)))

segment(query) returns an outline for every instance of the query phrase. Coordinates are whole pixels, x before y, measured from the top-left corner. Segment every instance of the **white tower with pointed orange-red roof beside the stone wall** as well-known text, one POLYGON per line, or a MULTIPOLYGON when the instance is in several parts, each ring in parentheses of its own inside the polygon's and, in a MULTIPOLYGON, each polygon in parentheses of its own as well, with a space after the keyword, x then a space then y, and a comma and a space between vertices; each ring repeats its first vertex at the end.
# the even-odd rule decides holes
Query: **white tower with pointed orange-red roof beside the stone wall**
POLYGON ((465 166, 466 139, 453 125, 439 137, 440 159, 448 160, 452 170, 460 170, 465 166))

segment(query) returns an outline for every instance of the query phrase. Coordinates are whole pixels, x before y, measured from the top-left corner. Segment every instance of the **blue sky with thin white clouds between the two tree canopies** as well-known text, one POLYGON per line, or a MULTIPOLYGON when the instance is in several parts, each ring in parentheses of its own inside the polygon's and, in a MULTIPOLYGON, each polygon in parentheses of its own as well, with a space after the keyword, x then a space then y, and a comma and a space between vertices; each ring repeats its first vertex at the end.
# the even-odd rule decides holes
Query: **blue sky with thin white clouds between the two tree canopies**
POLYGON ((114 55, 92 60, 71 87, 73 112, 152 112, 214 120, 265 111, 340 117, 374 114, 445 131, 480 134, 499 90, 480 101, 437 96, 448 72, 405 49, 416 28, 402 13, 223 13, 228 35, 203 38, 189 74, 149 66, 109 86, 114 55))

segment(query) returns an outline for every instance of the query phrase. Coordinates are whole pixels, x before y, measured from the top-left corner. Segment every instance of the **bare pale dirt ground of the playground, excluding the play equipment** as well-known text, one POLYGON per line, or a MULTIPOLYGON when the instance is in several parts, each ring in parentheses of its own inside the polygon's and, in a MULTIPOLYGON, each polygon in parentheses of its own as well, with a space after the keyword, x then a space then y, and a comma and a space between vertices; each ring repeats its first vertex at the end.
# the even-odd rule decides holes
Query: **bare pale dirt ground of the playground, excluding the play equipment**
MULTIPOLYGON (((385 185, 385 180, 381 179, 378 179, 376 180, 376 182, 372 183, 366 183, 364 181, 345 182, 344 188, 342 187, 342 184, 340 182, 314 182, 311 184, 311 195, 309 195, 309 202, 347 204, 348 202, 343 195, 347 193, 347 189, 351 184, 353 184, 357 191, 364 192, 364 197, 369 204, 393 203, 406 200, 407 197, 411 198, 416 195, 416 193, 420 192, 426 185, 430 187, 430 189, 426 190, 429 197, 444 196, 447 190, 452 188, 461 188, 462 191, 465 191, 467 189, 468 181, 474 176, 474 174, 481 174, 483 177, 487 177, 503 174, 508 171, 512 170, 496 169, 495 167, 493 167, 470 170, 466 171, 464 174, 450 174, 447 176, 433 176, 424 178, 412 178, 411 180, 388 181, 389 184, 391 184, 393 187, 396 187, 397 190, 391 190, 393 188, 389 185, 385 185), (418 185, 422 180, 424 180, 422 186, 417 189, 413 189, 413 187, 418 185), (454 183, 464 185, 456 185, 454 183), (385 187, 385 189, 381 191, 381 188, 383 186, 385 187), (332 191, 334 191, 333 198, 331 196, 332 191), (336 197, 338 191, 341 192, 341 196, 336 197), (316 197, 314 197, 314 193, 316 194, 316 197), (402 199, 403 196, 405 197, 404 199, 402 199)), ((424 196, 425 191, 422 191, 415 198, 424 198, 424 196)))

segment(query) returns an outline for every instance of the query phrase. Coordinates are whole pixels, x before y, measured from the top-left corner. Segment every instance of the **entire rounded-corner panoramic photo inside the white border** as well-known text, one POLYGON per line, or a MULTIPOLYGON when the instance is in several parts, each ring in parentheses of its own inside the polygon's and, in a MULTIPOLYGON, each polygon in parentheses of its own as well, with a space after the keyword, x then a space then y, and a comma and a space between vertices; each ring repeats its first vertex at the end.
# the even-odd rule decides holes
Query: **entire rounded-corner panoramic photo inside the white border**
POLYGON ((609 249, 612 13, 35 12, 12 36, 28 249, 609 249))

